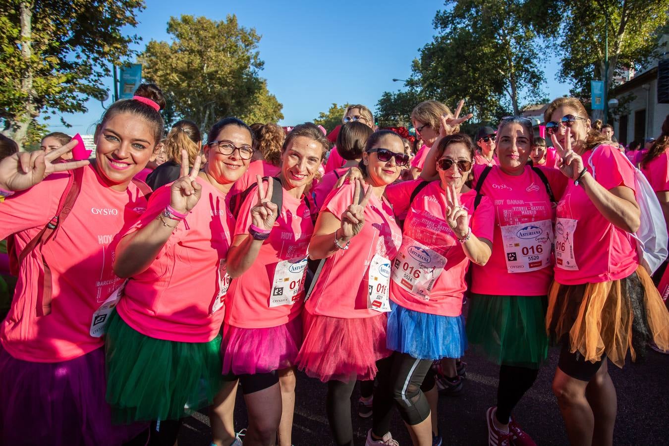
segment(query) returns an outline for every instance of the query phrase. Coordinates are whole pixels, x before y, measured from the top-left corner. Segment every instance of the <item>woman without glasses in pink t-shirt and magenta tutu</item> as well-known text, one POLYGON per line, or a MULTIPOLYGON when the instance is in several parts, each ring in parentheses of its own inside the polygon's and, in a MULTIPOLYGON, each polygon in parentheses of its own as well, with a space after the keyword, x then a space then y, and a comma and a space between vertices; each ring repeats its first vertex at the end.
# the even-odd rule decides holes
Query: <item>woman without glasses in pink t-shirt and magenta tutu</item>
MULTIPOLYGON (((311 122, 295 126, 284 141, 278 179, 258 177, 237 216, 221 352, 223 374, 242 382, 249 413, 244 441, 252 444, 274 444, 278 431, 280 445, 290 445, 293 365, 302 344, 306 256, 314 231, 304 192, 328 147, 311 122), (272 195, 281 197, 280 209, 272 195)), ((221 400, 233 403, 234 395, 221 400)))

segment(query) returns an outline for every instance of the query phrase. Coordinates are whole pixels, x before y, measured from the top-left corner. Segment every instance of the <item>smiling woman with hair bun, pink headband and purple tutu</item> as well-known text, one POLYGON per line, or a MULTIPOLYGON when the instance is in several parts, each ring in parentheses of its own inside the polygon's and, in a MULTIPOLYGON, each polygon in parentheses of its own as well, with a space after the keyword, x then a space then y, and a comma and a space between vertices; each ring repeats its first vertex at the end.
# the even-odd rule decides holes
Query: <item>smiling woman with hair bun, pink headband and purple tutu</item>
POLYGON ((133 99, 114 102, 96 128, 90 165, 52 164, 76 142, 0 164, 0 188, 21 191, 0 206, 0 238, 13 234, 16 252, 29 252, 17 265, 15 296, 0 328, 3 445, 118 445, 145 429, 112 426, 104 401, 100 336, 106 315, 100 308, 123 283, 112 271, 114 239, 147 207, 132 177, 163 134, 161 106, 163 94, 153 84, 142 84, 133 99), (27 173, 17 169, 19 159, 31 167, 27 173), (68 194, 74 204, 65 218, 59 202, 64 191, 78 187, 76 197, 68 194), (30 249, 50 221, 53 237, 30 249))

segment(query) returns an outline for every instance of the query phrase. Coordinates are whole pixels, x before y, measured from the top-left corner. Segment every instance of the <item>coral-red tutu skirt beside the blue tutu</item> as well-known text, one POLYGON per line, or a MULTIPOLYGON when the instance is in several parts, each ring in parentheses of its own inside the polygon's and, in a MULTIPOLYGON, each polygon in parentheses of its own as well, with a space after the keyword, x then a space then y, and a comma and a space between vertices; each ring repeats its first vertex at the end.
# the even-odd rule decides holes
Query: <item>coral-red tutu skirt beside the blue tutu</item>
POLYGON ((302 312, 304 341, 297 364, 308 376, 322 382, 371 380, 376 362, 390 356, 386 344, 385 314, 343 319, 302 312))

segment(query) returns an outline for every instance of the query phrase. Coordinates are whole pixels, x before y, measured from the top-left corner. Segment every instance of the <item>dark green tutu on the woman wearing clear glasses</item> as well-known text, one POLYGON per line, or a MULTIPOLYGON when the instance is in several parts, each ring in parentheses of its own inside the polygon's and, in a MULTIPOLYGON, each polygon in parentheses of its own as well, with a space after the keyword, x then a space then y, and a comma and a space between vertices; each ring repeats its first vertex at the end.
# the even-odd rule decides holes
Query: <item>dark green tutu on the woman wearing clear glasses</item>
POLYGON ((116 311, 106 326, 107 402, 115 423, 177 420, 211 405, 221 389, 221 335, 210 342, 151 338, 116 311))

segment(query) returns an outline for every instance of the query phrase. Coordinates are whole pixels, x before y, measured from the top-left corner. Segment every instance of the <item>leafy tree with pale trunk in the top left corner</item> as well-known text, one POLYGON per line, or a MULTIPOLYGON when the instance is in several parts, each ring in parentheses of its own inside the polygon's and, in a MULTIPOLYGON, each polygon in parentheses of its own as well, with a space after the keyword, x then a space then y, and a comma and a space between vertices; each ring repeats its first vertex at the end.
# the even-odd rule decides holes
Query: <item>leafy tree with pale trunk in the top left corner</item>
POLYGON ((31 122, 86 112, 104 93, 111 64, 128 61, 142 0, 4 0, 0 2, 0 127, 19 146, 31 122), (48 116, 46 117, 48 118, 48 116))

